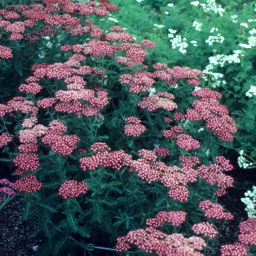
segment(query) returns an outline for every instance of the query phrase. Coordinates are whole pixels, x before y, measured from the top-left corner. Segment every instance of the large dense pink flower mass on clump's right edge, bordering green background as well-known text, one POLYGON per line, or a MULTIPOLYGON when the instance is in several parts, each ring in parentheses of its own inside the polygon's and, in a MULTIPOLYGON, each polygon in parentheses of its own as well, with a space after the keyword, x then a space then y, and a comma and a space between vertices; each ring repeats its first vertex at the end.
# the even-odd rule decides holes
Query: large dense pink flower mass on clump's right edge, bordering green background
POLYGON ((192 103, 195 110, 187 110, 185 115, 176 113, 175 119, 205 120, 206 127, 220 140, 232 141, 232 134, 237 132, 236 123, 230 116, 227 116, 227 107, 219 104, 217 99, 222 97, 221 94, 203 88, 199 91, 192 91, 192 95, 200 97, 192 103))

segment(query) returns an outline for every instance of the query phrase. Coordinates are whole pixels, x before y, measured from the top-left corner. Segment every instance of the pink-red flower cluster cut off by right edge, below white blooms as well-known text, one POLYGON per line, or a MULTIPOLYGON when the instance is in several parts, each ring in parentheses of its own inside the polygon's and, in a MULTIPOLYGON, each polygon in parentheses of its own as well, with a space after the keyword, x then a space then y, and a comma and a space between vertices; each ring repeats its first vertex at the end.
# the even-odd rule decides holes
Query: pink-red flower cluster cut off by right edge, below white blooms
POLYGON ((238 241, 243 244, 256 246, 256 219, 248 218, 245 222, 239 224, 240 234, 238 241))

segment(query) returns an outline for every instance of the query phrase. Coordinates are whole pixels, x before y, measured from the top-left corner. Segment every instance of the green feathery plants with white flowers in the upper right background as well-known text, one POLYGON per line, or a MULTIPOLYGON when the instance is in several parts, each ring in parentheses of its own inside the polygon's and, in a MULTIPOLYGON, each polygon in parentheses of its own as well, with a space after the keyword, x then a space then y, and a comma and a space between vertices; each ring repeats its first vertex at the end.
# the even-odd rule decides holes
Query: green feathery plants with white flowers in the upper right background
MULTIPOLYGON (((230 150, 230 156, 238 157, 238 151, 244 150, 249 162, 255 162, 255 1, 113 3, 124 6, 115 18, 135 34, 135 42, 146 37, 157 43, 149 53, 150 62, 181 67, 189 63, 190 68, 203 70, 200 86, 220 92, 222 103, 236 121, 235 151, 230 150), (124 9, 127 15, 123 19, 124 9), (143 19, 136 10, 143 13, 143 19)), ((243 165, 241 159, 238 164, 248 168, 248 162, 243 165)))

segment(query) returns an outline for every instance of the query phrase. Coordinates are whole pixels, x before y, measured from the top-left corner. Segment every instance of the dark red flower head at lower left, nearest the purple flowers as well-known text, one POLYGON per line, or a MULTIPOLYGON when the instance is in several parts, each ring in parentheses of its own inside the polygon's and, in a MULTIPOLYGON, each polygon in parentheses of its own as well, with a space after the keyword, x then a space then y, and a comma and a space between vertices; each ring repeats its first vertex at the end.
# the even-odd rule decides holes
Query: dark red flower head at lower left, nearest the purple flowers
POLYGON ((15 181, 14 188, 19 192, 32 193, 41 189, 42 183, 37 181, 37 177, 31 174, 15 181))

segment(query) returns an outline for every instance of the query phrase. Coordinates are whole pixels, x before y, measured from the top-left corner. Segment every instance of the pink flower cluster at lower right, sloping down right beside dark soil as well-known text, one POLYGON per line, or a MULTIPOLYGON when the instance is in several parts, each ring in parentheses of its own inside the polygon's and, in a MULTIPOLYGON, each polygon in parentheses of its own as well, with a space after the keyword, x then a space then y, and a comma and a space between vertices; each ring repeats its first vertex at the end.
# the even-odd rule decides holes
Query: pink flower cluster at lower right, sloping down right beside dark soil
POLYGON ((200 201, 198 206, 202 209, 202 211, 205 212, 204 216, 207 218, 226 220, 233 219, 233 214, 224 212, 222 210, 222 206, 220 206, 218 203, 211 203, 210 200, 200 201))

